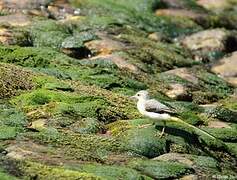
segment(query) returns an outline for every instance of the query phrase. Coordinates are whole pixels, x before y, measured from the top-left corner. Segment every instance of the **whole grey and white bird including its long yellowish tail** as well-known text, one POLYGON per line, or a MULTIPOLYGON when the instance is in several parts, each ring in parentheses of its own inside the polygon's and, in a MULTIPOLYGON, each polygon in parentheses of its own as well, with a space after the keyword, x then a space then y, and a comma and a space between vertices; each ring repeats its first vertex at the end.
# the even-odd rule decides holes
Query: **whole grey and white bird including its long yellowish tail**
MULTIPOLYGON (((189 128, 191 128, 197 134, 203 134, 212 140, 216 138, 211 134, 207 133, 204 130, 201 130, 181 119, 175 117, 178 115, 177 111, 173 108, 162 104, 161 102, 157 101, 156 99, 150 99, 149 93, 147 90, 138 91, 134 96, 131 96, 130 99, 136 99, 137 101, 137 109, 138 111, 145 117, 148 117, 153 120, 163 120, 164 126, 160 133, 160 137, 164 135, 166 121, 173 121, 176 123, 181 123, 189 128)), ((148 124, 151 125, 151 124, 148 124)))

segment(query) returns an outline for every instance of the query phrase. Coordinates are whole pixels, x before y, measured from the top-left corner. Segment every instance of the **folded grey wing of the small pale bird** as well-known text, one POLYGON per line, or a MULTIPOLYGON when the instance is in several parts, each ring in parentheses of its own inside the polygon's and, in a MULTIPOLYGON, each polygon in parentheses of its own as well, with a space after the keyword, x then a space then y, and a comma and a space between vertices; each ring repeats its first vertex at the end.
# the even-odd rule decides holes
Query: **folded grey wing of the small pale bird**
POLYGON ((169 107, 158 102, 155 99, 150 99, 146 101, 145 110, 148 112, 156 112, 156 113, 175 113, 174 110, 170 109, 169 107))

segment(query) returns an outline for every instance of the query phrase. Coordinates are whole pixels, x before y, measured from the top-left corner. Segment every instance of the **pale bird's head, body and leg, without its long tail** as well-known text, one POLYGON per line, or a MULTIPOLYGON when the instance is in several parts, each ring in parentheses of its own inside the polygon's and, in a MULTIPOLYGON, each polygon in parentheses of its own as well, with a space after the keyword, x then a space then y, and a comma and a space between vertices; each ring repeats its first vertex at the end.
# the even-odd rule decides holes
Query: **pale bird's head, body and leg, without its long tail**
POLYGON ((168 120, 172 115, 177 114, 176 111, 156 99, 150 99, 147 90, 138 91, 130 98, 138 100, 137 109, 143 116, 154 120, 164 120, 164 126, 160 134, 160 137, 162 137, 165 132, 165 120, 168 120))

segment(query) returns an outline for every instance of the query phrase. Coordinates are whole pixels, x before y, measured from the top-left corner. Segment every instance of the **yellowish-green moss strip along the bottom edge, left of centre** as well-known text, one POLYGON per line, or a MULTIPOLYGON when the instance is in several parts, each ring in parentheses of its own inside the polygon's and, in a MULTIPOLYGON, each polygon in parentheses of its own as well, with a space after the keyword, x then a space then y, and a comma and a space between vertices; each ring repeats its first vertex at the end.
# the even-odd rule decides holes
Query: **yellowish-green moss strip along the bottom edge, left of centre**
POLYGON ((22 164, 21 171, 26 179, 85 179, 99 180, 102 179, 90 173, 81 173, 73 170, 63 169, 61 167, 47 166, 40 163, 25 162, 22 164))

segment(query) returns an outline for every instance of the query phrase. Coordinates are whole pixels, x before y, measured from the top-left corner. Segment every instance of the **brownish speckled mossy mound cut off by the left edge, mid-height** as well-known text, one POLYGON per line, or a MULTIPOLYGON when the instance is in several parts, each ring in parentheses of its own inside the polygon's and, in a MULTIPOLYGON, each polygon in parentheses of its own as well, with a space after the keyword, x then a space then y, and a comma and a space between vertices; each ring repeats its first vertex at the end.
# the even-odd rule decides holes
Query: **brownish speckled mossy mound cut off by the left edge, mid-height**
POLYGON ((0 63, 0 98, 10 98, 34 88, 33 73, 14 65, 0 63))

